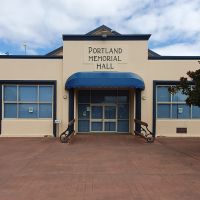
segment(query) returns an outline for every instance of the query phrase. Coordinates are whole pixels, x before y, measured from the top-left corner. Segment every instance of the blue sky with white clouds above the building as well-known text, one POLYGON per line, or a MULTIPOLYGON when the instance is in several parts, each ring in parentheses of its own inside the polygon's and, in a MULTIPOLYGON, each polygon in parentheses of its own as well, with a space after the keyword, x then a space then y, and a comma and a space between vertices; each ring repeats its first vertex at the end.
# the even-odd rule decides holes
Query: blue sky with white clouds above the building
POLYGON ((152 34, 161 55, 200 56, 200 0, 0 0, 0 54, 45 55, 62 34, 106 25, 121 34, 152 34))

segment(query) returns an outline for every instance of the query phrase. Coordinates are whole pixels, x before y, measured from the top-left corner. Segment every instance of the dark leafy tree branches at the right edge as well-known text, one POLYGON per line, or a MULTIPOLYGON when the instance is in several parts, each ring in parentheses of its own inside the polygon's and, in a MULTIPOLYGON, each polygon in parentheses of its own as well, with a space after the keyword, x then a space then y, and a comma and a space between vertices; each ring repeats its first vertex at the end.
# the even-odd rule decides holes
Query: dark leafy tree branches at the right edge
POLYGON ((196 71, 188 71, 188 77, 181 77, 177 86, 169 88, 169 92, 174 94, 181 91, 187 95, 186 103, 200 107, 200 69, 196 71), (189 78, 189 79, 188 79, 189 78))

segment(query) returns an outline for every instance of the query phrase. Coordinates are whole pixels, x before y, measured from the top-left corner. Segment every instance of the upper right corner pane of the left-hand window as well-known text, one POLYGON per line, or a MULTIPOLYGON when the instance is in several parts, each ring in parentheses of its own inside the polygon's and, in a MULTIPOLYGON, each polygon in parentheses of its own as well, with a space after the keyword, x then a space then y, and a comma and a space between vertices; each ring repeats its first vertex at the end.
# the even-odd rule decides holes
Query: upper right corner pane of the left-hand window
POLYGON ((40 102, 52 102, 52 99, 53 99, 53 87, 52 86, 40 86, 39 101, 40 102))

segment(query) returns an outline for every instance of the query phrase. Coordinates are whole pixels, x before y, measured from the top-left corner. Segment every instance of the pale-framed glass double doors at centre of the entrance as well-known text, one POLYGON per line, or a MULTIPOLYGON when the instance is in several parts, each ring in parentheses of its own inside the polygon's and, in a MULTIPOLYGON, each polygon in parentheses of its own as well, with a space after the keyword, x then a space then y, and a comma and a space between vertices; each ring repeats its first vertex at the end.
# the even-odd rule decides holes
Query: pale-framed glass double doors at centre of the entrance
POLYGON ((91 104, 90 130, 91 132, 116 132, 116 104, 91 104))

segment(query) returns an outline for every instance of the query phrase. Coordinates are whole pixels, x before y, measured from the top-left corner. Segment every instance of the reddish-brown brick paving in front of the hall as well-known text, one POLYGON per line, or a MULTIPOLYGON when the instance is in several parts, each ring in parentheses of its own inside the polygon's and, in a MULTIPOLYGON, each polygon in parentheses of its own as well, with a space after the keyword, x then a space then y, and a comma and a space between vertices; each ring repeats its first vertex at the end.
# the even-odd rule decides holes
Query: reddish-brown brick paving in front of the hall
POLYGON ((0 200, 199 200, 200 138, 0 138, 0 200))

